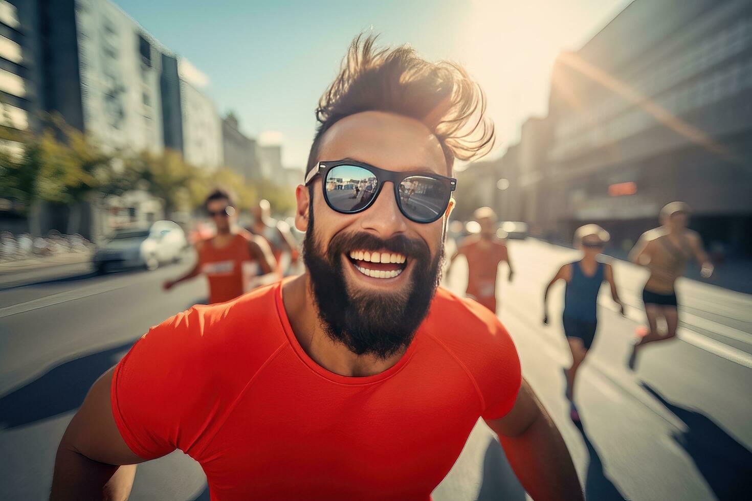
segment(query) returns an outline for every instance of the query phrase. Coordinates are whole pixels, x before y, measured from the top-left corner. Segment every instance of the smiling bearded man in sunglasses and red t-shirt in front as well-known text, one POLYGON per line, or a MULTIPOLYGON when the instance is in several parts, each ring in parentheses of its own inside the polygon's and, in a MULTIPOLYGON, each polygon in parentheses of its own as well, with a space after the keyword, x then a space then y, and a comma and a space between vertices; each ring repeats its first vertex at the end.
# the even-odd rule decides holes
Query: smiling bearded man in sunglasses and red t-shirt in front
POLYGON ((128 496, 176 448, 212 499, 429 499, 478 418, 534 499, 581 499, 504 327, 438 288, 454 158, 490 144, 456 66, 357 39, 317 109, 302 276, 153 327, 92 387, 53 499, 128 496))

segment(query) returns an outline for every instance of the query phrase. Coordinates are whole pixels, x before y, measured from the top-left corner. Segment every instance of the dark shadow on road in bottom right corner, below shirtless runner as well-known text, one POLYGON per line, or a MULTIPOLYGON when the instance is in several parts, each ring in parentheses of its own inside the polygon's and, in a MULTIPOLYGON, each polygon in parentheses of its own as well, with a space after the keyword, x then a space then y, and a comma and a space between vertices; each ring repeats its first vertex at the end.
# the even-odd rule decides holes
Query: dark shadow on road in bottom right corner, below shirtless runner
POLYGON ((675 431, 672 438, 692 457, 718 499, 749 499, 752 451, 702 412, 669 402, 645 382, 640 385, 687 425, 687 431, 675 431))

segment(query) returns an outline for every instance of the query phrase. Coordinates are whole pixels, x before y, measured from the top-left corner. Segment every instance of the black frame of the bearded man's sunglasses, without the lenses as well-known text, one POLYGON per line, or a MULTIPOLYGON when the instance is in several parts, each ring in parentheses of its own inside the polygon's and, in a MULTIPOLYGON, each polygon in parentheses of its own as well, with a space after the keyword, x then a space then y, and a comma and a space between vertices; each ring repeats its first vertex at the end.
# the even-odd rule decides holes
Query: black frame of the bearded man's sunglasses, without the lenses
POLYGON ((305 186, 308 186, 311 181, 313 181, 317 176, 321 176, 321 191, 324 195, 324 200, 326 201, 326 205, 329 206, 330 209, 334 210, 337 213, 340 214, 357 214, 362 213, 364 210, 368 209, 368 207, 371 207, 373 205, 374 201, 378 198, 379 195, 381 195, 381 189, 384 188, 384 183, 387 181, 391 181, 391 183, 394 186, 394 198, 397 201, 397 207, 399 207, 399 212, 402 213, 402 216, 405 216, 406 218, 410 219, 412 222, 417 222, 420 224, 427 225, 431 222, 435 222, 438 219, 441 219, 441 216, 444 216, 444 213, 447 211, 447 207, 449 207, 449 202, 452 198, 452 192, 457 187, 457 180, 453 177, 446 177, 441 176, 440 174, 431 174, 427 173, 425 171, 409 171, 409 172, 395 172, 395 171, 387 171, 386 169, 378 168, 371 164, 366 164, 362 161, 356 161, 356 160, 332 160, 332 161, 320 161, 317 162, 316 166, 311 169, 311 171, 308 171, 308 174, 305 175, 305 186), (326 176, 329 174, 329 171, 331 171, 335 167, 340 167, 342 165, 350 165, 352 167, 359 167, 363 168, 366 171, 370 172, 371 174, 376 177, 376 182, 378 183, 378 189, 376 189, 376 193, 374 194, 373 198, 371 198, 371 201, 368 202, 368 204, 365 204, 363 207, 359 207, 357 210, 340 210, 332 205, 332 203, 329 201, 329 196, 326 195, 326 176), (444 208, 439 211, 438 215, 430 219, 429 221, 422 221, 420 219, 415 219, 408 215, 408 213, 405 213, 405 209, 402 208, 402 199, 399 195, 399 185, 407 179, 408 177, 429 177, 434 180, 438 180, 441 182, 446 183, 449 186, 449 197, 447 198, 446 204, 444 204, 444 208))

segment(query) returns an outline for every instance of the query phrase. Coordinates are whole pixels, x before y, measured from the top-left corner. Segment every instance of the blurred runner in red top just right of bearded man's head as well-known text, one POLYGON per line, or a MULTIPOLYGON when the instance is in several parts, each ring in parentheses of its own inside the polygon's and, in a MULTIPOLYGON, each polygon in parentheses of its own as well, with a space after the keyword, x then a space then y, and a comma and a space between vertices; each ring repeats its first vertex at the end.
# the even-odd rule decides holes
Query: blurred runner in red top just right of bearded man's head
MULTIPOLYGON (((468 288, 466 294, 496 313, 496 275, 499 263, 506 261, 509 267, 509 282, 514 270, 504 240, 496 236, 498 218, 490 207, 481 207, 473 213, 481 225, 480 233, 466 237, 452 256, 449 266, 459 255, 468 260, 468 288)), ((449 271, 447 270, 447 275, 449 271)))

